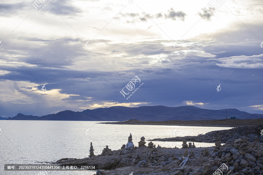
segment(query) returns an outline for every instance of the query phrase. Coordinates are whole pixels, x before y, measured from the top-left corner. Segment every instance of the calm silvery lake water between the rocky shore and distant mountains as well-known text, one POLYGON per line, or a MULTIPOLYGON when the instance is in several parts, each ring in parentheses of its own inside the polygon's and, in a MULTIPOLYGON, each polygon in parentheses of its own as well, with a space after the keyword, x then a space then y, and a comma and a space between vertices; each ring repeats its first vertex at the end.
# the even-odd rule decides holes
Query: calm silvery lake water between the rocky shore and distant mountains
MULTIPOLYGON (((106 145, 111 150, 120 149, 132 134, 134 145, 138 146, 144 136, 148 139, 175 136, 196 136, 210 131, 231 129, 230 127, 189 127, 160 125, 108 125, 94 121, 25 121, 0 120, 0 174, 37 175, 39 171, 4 171, 4 164, 40 164, 61 158, 85 158, 89 155, 90 142, 94 154, 102 153, 106 145)), ((178 148, 181 142, 158 142, 157 146, 178 148)), ((195 143, 196 147, 214 146, 214 143, 195 143)), ((48 171, 48 175, 89 175, 95 171, 48 171)))

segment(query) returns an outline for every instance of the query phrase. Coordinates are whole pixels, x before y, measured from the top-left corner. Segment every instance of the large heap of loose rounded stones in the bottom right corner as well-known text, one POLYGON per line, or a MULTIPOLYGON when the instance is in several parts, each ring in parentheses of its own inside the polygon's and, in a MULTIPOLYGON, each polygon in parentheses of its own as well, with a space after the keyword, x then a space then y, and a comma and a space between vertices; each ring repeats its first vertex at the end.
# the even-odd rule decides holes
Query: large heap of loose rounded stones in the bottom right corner
POLYGON ((234 144, 226 145, 225 150, 215 152, 212 157, 209 160, 211 169, 221 166, 222 162, 224 162, 232 171, 232 174, 235 175, 263 174, 262 154, 250 148, 243 139, 236 139, 234 144))

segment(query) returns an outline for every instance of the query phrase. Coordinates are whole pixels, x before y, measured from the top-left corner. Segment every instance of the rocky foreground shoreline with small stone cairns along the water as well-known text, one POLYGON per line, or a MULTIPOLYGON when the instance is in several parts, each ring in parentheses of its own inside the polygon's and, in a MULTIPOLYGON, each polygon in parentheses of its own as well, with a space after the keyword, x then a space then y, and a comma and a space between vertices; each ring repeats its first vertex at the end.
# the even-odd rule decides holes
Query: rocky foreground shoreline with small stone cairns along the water
POLYGON ((213 138, 215 146, 206 148, 194 148, 187 139, 183 140, 184 148, 162 148, 154 142, 146 146, 144 137, 134 146, 130 134, 127 144, 119 150, 112 151, 106 146, 101 155, 94 155, 96 148, 91 143, 89 157, 64 158, 53 163, 68 166, 98 164, 96 175, 211 175, 220 169, 224 174, 263 174, 263 136, 258 128, 263 125, 209 132, 207 136, 213 138), (228 143, 221 145, 221 142, 228 143))

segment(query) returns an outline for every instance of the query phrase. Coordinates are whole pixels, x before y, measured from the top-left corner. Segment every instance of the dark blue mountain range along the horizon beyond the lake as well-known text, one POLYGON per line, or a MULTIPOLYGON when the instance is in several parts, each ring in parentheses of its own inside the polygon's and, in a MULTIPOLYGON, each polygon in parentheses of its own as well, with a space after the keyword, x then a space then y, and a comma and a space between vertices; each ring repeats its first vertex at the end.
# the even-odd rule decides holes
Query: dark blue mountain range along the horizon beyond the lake
MULTIPOLYGON (((23 115, 6 120, 68 120, 68 121, 125 121, 137 119, 142 121, 164 120, 217 120, 226 118, 226 109, 212 110, 194 106, 140 106, 124 107, 113 106, 109 108, 86 109, 82 112, 70 110, 44 116, 23 115)), ((237 109, 227 109, 227 118, 235 116, 236 119, 263 118, 263 114, 250 114, 237 109)))

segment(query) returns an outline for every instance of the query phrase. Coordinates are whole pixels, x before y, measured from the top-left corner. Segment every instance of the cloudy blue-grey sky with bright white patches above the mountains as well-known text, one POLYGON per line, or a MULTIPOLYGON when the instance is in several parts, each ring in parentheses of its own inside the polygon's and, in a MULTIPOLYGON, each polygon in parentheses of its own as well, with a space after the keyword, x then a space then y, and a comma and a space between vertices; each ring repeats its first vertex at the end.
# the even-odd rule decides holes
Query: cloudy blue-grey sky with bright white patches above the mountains
POLYGON ((0 117, 156 105, 262 114, 262 9, 259 0, 1 0, 0 117))

